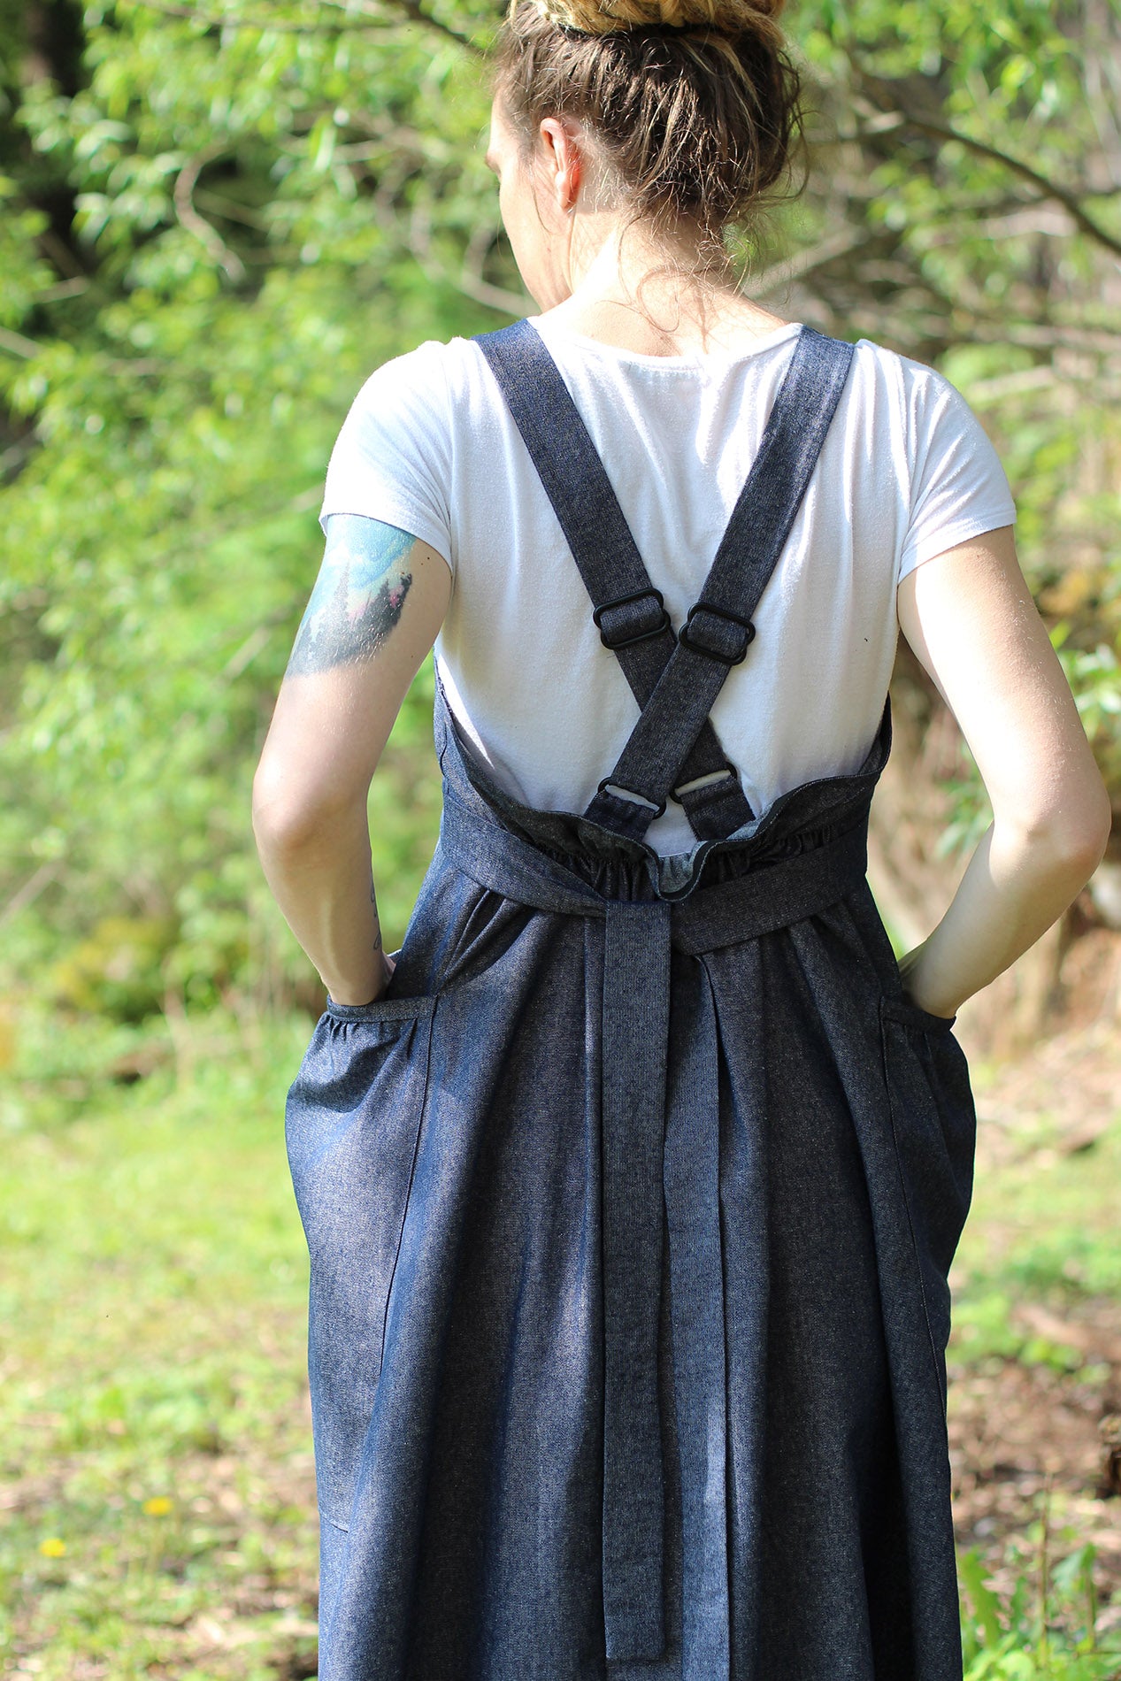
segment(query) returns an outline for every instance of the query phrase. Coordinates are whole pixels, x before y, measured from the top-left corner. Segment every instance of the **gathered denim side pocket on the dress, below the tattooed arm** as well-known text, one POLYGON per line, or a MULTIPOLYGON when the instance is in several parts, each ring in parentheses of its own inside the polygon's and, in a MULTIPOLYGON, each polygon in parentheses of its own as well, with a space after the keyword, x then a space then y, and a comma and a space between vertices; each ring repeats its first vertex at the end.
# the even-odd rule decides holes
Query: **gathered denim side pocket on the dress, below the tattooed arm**
POLYGON ((434 999, 328 1004, 284 1138, 311 1256, 308 1375, 319 1511, 346 1528, 429 1081, 434 999))

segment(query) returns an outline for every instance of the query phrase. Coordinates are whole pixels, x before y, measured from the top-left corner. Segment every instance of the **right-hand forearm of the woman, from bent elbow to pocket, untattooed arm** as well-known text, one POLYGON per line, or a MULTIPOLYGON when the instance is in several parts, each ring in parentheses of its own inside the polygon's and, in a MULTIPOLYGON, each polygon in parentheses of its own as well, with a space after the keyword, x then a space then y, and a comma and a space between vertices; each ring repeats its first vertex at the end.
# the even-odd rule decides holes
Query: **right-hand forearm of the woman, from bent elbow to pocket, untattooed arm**
POLYGON ((953 1015, 1015 963, 1086 884, 1101 857, 1094 847, 990 825, 950 909, 899 963, 914 1002, 953 1015))

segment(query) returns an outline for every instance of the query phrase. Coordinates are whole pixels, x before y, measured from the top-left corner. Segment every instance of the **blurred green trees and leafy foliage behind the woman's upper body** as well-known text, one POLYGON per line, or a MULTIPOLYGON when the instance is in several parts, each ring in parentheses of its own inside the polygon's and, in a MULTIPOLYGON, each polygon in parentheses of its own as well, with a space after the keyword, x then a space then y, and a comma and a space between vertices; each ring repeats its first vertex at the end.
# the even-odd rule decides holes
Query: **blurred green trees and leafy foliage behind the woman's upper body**
MULTIPOLYGON (((526 308, 481 163, 494 20, 479 0, 0 7, 8 982, 57 985, 62 948, 71 1004, 133 1014, 113 958, 89 970, 126 920, 175 930, 143 1007, 314 1007, 249 780, 346 403, 387 356, 526 308)), ((1121 802, 1121 3, 807 0, 792 30, 813 171, 739 239, 745 284, 975 402, 1121 802)), ((430 674, 375 778, 390 943, 435 834, 429 696, 430 674)))

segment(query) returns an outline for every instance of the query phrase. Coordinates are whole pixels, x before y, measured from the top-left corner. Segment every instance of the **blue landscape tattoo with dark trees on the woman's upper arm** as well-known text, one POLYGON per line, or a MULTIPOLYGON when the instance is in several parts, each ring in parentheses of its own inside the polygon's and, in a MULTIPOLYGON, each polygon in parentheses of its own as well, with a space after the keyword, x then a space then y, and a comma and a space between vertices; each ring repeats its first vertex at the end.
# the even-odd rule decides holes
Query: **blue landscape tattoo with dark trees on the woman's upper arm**
POLYGON ((355 666, 383 646, 412 585, 415 538, 363 514, 331 514, 323 566, 286 676, 355 666))

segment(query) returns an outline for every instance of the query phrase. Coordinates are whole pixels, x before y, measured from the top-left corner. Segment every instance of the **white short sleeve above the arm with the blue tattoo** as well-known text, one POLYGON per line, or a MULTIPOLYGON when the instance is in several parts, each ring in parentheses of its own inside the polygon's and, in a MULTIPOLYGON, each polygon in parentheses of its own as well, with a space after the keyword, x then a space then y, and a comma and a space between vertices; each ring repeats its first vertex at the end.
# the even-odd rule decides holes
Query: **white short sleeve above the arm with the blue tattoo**
POLYGON ((452 568, 444 350, 420 345, 361 387, 331 451, 319 524, 365 514, 429 543, 452 568))

